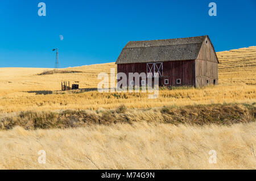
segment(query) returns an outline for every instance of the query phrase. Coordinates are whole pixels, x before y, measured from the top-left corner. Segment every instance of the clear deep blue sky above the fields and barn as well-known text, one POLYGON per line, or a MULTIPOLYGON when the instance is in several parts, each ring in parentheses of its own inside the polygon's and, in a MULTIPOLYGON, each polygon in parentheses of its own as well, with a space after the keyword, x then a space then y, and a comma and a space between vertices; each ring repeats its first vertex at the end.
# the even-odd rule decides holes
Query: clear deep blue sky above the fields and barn
POLYGON ((1 1, 0 67, 54 68, 56 47, 60 68, 113 62, 134 40, 209 35, 217 52, 249 47, 255 17, 255 0, 1 1), (210 2, 217 16, 208 15, 210 2))

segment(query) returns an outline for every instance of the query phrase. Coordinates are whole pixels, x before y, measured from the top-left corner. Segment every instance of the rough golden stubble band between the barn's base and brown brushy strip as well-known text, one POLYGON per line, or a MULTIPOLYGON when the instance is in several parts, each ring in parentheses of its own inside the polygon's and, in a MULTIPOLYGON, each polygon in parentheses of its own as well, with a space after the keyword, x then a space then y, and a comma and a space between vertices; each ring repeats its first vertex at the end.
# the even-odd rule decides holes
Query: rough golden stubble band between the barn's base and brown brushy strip
MULTIPOLYGON (((117 108, 125 104, 128 108, 151 108, 162 106, 186 106, 196 104, 254 103, 255 86, 216 86, 202 89, 163 90, 158 99, 148 99, 145 93, 100 93, 98 91, 80 94, 48 94, 51 91, 35 91, 25 95, 9 95, 0 98, 0 113, 18 111, 52 110, 98 110, 117 108), (28 95, 35 94, 35 95, 28 95), (37 95, 36 95, 37 94, 37 95), (46 94, 46 95, 44 95, 46 94)), ((75 92, 77 93, 77 91, 75 92)))

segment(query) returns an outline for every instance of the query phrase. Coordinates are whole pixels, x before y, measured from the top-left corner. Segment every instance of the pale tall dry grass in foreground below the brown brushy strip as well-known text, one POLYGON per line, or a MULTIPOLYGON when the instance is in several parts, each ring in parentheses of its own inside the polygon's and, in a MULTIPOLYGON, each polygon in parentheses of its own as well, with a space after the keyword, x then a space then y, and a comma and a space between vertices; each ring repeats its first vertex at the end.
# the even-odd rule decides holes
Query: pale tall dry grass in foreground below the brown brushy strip
POLYGON ((94 125, 0 132, 0 169, 256 169, 256 123, 94 125), (46 151, 46 164, 38 151, 46 151), (209 150, 217 151, 210 164, 209 150))

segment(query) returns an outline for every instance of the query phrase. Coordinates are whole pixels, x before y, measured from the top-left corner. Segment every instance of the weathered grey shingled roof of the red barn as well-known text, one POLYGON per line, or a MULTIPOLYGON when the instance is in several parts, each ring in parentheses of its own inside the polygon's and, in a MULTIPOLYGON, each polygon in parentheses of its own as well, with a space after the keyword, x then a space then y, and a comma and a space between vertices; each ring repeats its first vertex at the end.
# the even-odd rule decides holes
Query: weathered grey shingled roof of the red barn
POLYGON ((195 60, 206 37, 129 41, 115 64, 195 60))

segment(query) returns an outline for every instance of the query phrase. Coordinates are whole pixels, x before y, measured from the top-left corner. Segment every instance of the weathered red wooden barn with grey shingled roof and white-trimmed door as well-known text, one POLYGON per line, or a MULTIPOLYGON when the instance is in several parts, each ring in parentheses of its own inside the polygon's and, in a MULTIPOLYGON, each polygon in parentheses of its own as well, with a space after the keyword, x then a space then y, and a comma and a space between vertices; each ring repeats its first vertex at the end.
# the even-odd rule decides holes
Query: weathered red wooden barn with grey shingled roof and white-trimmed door
MULTIPOLYGON (((129 41, 115 64, 117 72, 127 77, 129 73, 152 73, 153 77, 158 73, 159 86, 218 84, 218 58, 208 35, 129 41)), ((133 84, 127 82, 127 85, 133 84)))

